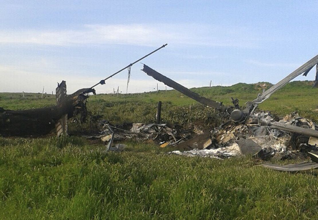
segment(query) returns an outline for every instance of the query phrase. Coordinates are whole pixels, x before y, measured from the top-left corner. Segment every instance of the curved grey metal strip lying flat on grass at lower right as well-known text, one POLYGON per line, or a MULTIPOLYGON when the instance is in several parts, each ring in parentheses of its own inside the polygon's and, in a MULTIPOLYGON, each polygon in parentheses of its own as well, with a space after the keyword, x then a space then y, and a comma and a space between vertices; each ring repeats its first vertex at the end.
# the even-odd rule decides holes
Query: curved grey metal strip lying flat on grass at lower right
POLYGON ((288 165, 277 165, 272 163, 265 163, 265 164, 262 164, 262 166, 270 168, 272 170, 288 171, 288 172, 314 170, 318 168, 317 163, 310 162, 310 161, 304 161, 298 164, 288 164, 288 165))

